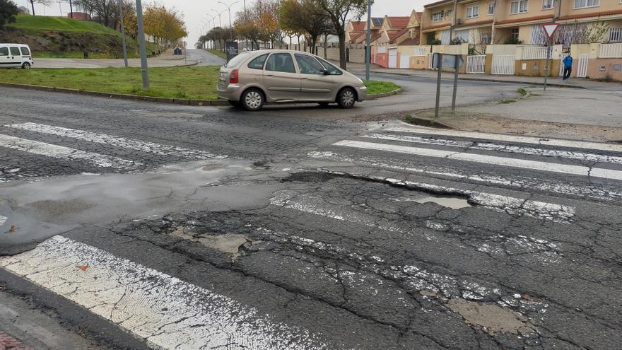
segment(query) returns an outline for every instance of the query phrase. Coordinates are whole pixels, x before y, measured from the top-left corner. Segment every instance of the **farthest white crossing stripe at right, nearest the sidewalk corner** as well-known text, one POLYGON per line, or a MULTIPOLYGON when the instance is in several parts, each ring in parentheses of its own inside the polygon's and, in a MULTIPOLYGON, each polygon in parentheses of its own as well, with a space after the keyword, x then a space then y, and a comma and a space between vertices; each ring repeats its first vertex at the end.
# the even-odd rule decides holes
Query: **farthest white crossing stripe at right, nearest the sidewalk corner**
POLYGON ((458 130, 441 130, 441 129, 430 129, 430 128, 423 128, 423 127, 412 127, 412 128, 390 127, 390 128, 384 129, 384 131, 406 132, 406 133, 411 133, 411 134, 456 136, 456 137, 464 137, 464 138, 469 138, 469 139, 506 141, 506 142, 517 142, 521 144, 536 144, 536 145, 559 146, 559 147, 567 147, 567 148, 584 148, 584 149, 597 149, 600 151, 622 152, 622 145, 601 144, 598 142, 561 140, 561 139, 543 139, 540 137, 532 137, 532 136, 485 134, 483 132, 461 132, 458 130))

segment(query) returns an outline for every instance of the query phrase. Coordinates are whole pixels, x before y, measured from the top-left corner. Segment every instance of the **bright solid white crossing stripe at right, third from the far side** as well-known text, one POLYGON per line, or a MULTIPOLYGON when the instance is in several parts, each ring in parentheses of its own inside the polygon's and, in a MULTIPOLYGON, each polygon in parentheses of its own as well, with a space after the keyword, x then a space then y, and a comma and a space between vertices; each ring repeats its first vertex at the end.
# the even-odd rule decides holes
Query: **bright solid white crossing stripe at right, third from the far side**
POLYGON ((474 162, 474 163, 502 165, 502 166, 507 166, 507 167, 512 167, 512 168, 546 171, 549 173, 563 173, 563 174, 570 174, 570 175, 601 177, 601 178, 610 179, 610 180, 622 180, 622 171, 602 169, 602 168, 591 168, 590 169, 587 166, 581 166, 581 165, 567 165, 567 164, 559 164, 559 163, 528 161, 525 159, 485 156, 481 154, 442 151, 442 150, 430 149, 430 148, 417 148, 417 147, 389 145, 389 144, 374 144, 372 142, 364 142, 364 141, 345 140, 345 141, 339 141, 333 145, 353 147, 353 148, 372 149, 376 151, 413 154, 416 156, 425 156, 425 157, 433 157, 433 158, 454 159, 456 161, 467 161, 467 162, 474 162))

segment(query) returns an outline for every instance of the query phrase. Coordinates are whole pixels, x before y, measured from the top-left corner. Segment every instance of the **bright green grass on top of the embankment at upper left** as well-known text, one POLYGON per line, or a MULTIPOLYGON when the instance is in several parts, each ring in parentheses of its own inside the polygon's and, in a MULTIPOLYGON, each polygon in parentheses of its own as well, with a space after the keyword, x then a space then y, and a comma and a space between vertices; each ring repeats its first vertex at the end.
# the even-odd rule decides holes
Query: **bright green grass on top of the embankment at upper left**
POLYGON ((98 34, 120 35, 117 30, 91 21, 78 21, 73 18, 18 15, 15 23, 8 23, 8 27, 23 30, 54 30, 59 32, 89 32, 98 34))

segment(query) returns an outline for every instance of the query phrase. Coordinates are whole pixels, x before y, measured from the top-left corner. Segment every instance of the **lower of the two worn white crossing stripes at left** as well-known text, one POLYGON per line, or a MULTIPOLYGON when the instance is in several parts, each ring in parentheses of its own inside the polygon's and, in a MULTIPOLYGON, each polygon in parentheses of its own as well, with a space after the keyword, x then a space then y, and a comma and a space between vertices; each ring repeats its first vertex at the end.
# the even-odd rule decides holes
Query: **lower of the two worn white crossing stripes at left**
POLYGON ((105 156, 100 153, 80 151, 65 146, 46 144, 40 141, 20 139, 3 134, 0 134, 0 146, 38 154, 40 156, 63 159, 65 161, 85 161, 102 168, 128 169, 142 165, 142 163, 128 161, 127 159, 105 156))

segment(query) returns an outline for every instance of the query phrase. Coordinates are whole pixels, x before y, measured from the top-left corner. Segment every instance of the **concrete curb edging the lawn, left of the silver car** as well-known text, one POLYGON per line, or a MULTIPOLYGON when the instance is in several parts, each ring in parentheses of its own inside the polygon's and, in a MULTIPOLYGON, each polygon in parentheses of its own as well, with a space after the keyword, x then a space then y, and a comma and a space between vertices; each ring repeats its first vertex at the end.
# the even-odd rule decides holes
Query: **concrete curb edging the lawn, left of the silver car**
POLYGON ((120 100, 134 100, 154 103, 168 103, 172 105, 189 105, 189 106, 224 106, 229 105, 225 100, 192 100, 188 98, 158 98, 151 96, 129 95, 124 93, 100 93, 97 91, 77 90, 73 88, 52 88, 50 86, 38 86, 16 83, 2 83, 0 86, 7 88, 23 88, 26 90, 47 91, 53 93, 71 93, 74 95, 96 96, 104 98, 118 98, 120 100))

